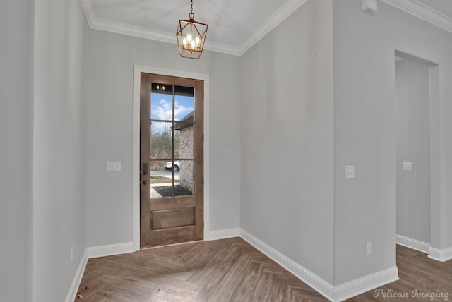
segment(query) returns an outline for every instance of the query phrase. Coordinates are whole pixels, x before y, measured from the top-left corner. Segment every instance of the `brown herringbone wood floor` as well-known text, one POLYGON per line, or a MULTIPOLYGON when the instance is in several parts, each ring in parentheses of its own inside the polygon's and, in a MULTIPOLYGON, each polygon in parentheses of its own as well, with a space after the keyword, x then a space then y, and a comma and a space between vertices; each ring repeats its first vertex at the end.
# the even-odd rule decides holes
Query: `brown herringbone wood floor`
MULTIPOLYGON (((400 246, 397 250, 400 281, 381 286, 382 291, 450 291, 452 301, 452 261, 436 262, 400 246)), ((349 301, 415 301, 374 295, 369 291, 349 301)), ((328 300, 242 238, 228 238, 90 259, 76 298, 83 301, 328 300)))

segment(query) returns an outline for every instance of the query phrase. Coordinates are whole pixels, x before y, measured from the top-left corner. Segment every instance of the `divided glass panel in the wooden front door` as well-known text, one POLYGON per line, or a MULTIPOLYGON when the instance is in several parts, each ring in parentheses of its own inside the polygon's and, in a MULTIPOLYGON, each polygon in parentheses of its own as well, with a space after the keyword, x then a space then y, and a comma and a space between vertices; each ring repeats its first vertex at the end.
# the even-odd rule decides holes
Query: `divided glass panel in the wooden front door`
POLYGON ((194 195, 194 87, 151 87, 150 198, 194 195))

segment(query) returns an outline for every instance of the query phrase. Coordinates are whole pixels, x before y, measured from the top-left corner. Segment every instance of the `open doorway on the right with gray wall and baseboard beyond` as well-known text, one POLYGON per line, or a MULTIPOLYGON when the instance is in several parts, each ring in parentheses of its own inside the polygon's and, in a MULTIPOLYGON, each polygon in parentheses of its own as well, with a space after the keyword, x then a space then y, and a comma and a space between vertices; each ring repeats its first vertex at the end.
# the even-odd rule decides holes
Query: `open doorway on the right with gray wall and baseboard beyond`
POLYGON ((439 240, 439 68, 396 51, 396 240, 429 253, 439 240))

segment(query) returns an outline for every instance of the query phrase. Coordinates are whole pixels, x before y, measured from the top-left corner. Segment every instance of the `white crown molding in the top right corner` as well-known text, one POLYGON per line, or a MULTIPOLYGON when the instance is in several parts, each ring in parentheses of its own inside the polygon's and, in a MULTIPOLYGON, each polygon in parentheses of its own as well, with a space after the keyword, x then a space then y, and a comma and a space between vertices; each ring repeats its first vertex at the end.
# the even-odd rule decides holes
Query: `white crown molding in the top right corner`
POLYGON ((417 0, 381 0, 439 28, 452 32, 452 18, 417 0))

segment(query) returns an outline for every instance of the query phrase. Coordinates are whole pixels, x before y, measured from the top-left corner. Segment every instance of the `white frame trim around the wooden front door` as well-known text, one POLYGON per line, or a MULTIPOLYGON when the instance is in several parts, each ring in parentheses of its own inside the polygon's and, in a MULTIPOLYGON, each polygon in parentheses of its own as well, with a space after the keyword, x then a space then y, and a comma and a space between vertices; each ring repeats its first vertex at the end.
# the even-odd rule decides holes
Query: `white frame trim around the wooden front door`
POLYGON ((135 65, 133 71, 133 251, 140 250, 140 103, 141 73, 155 73, 204 81, 204 240, 209 240, 209 76, 135 65))

